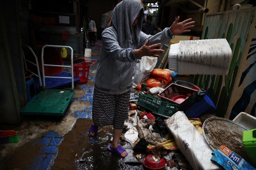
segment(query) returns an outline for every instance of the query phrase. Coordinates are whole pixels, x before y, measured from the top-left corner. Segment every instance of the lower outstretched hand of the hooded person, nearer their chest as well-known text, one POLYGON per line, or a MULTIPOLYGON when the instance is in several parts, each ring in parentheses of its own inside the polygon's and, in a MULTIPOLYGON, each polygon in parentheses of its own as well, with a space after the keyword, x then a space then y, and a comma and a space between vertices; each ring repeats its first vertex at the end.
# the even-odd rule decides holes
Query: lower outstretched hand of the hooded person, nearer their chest
POLYGON ((152 46, 149 46, 149 44, 150 39, 141 48, 134 51, 136 58, 141 58, 143 56, 160 57, 158 54, 163 54, 165 52, 164 50, 154 49, 158 46, 162 46, 161 43, 153 44, 152 46))

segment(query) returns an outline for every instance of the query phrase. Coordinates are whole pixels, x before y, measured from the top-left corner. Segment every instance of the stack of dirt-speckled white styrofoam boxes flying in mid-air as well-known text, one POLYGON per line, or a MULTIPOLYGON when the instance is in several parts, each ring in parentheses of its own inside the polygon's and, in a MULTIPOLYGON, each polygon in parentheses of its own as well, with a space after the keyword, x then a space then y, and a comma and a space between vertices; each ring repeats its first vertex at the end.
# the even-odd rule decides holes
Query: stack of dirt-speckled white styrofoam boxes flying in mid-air
POLYGON ((169 69, 191 75, 226 75, 232 51, 226 39, 187 40, 170 46, 169 69))

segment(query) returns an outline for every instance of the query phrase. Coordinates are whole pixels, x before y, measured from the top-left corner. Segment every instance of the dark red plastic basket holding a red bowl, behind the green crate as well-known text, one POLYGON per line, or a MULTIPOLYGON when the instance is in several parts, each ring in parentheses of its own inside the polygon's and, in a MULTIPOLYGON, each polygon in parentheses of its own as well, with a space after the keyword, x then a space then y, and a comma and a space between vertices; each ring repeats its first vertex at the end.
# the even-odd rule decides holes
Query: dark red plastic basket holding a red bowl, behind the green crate
POLYGON ((165 90, 159 93, 158 96, 165 100, 180 104, 181 102, 186 100, 187 97, 191 96, 196 92, 197 90, 172 83, 168 87, 166 87, 165 90))

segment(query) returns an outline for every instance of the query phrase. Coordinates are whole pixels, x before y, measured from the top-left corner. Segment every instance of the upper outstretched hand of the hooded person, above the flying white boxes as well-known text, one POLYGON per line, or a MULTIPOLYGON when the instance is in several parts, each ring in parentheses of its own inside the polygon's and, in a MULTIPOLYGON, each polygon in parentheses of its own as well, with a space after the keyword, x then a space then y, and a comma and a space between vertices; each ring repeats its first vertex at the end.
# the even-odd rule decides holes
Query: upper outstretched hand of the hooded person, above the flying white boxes
POLYGON ((190 28, 194 27, 195 21, 192 21, 191 18, 184 20, 183 22, 179 22, 180 16, 173 22, 172 26, 170 27, 171 32, 173 35, 179 35, 184 32, 190 32, 190 28))

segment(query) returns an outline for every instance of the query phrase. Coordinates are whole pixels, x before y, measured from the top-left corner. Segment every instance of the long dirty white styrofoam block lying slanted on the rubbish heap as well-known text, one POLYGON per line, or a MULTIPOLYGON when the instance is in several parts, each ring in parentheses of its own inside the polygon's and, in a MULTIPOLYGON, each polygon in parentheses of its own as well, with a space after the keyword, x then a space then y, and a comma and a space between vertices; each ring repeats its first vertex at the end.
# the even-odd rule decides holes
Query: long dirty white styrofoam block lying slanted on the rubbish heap
POLYGON ((188 121, 183 112, 176 112, 166 120, 166 127, 172 133, 176 144, 194 170, 217 170, 211 162, 213 152, 205 138, 188 121))

